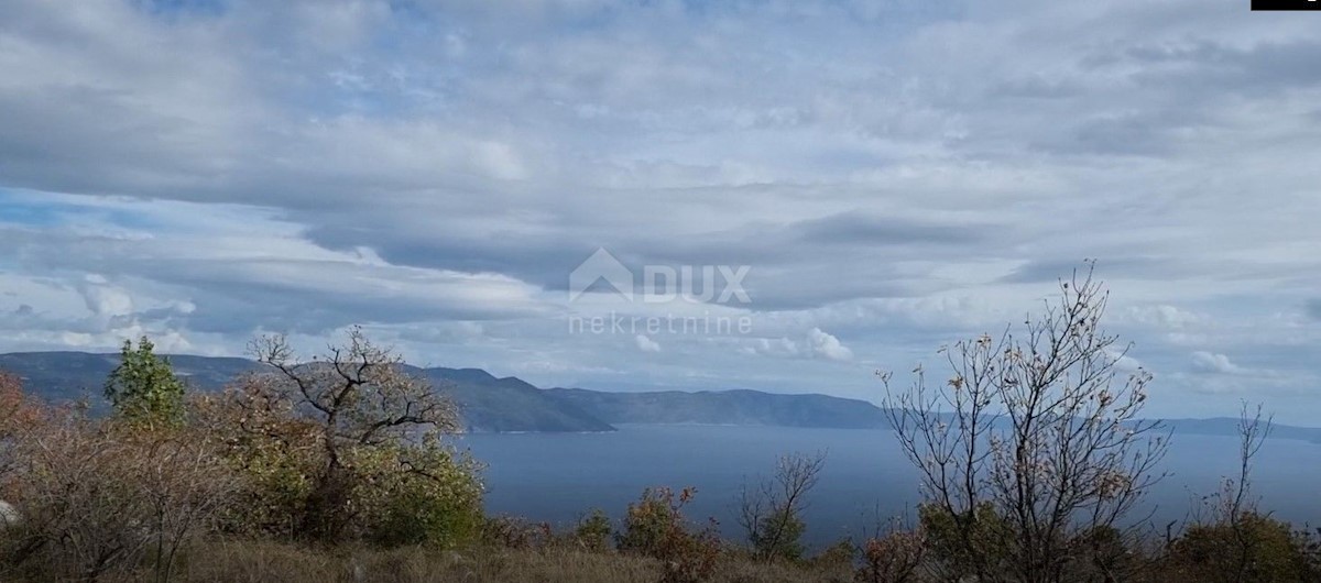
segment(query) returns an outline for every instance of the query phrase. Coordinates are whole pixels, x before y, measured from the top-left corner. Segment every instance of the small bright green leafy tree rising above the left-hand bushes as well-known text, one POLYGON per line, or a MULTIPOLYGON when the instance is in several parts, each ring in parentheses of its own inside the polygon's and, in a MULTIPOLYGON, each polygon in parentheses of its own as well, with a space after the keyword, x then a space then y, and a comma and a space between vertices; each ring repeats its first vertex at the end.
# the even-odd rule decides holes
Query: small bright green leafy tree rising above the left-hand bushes
POLYGON ((124 340, 120 363, 106 380, 106 398, 115 412, 135 422, 180 425, 184 419, 184 381, 174 376, 169 360, 156 356, 147 336, 124 340))

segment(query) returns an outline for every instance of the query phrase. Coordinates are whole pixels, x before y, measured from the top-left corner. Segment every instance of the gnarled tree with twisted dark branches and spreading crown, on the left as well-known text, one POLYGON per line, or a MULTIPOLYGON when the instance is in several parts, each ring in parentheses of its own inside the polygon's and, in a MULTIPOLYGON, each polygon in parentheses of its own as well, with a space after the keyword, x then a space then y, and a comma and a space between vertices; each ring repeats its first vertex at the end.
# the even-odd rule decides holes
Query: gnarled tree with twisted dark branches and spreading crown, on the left
POLYGON ((355 448, 460 430, 453 402, 361 328, 310 361, 299 360, 284 336, 259 338, 250 350, 272 368, 263 379, 268 396, 262 401, 288 404, 320 431, 325 462, 301 528, 308 536, 338 539, 351 520, 349 456, 355 448))

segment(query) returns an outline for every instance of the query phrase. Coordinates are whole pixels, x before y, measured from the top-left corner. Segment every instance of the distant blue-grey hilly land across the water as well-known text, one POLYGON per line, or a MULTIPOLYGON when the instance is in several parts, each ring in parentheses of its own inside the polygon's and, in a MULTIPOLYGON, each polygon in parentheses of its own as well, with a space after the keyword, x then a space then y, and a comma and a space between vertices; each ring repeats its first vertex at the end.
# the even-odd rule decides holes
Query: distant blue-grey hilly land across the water
MULTIPOLYGON (((176 373, 196 390, 219 390, 239 375, 262 367, 238 357, 168 357, 176 373)), ((28 390, 50 401, 90 397, 99 402, 106 376, 118 364, 118 353, 0 353, 0 371, 18 375, 28 390)), ((518 377, 497 377, 480 368, 410 369, 460 405, 465 429, 472 433, 614 431, 616 423, 889 427, 885 412, 871 402, 816 393, 543 389, 518 377)), ((1238 435, 1236 425, 1236 418, 1168 421, 1174 433, 1201 435, 1238 435)), ((1272 437, 1321 443, 1321 429, 1275 425, 1272 437)))

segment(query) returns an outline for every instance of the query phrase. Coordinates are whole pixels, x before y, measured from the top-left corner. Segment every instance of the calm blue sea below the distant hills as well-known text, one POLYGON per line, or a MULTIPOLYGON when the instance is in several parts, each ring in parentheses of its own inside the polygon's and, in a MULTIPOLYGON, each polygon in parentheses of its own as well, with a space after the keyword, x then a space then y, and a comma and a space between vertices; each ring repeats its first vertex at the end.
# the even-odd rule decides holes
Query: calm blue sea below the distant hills
MULTIPOLYGON (((691 517, 715 517, 737 533, 734 500, 745 479, 774 471, 793 451, 828 452, 806 512, 807 539, 823 545, 860 536, 876 518, 911 516, 917 475, 882 430, 624 425, 609 434, 477 434, 460 447, 487 464, 487 510, 535 521, 572 524, 593 508, 612 517, 646 487, 695 487, 691 517)), ((1164 470, 1170 474, 1145 510, 1164 529, 1182 520, 1221 476, 1236 471, 1234 437, 1174 435, 1164 470)), ((1321 445, 1269 439, 1255 462, 1262 506, 1277 517, 1321 525, 1321 445)))

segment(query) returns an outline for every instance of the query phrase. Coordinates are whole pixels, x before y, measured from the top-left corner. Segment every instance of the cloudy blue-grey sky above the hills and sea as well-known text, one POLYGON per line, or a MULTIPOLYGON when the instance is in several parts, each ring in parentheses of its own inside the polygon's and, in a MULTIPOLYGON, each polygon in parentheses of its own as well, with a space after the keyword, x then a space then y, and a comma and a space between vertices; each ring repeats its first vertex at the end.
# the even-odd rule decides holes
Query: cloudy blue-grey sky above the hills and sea
POLYGON ((1321 426, 1321 21, 1247 4, 0 0, 0 351, 877 401, 1091 259, 1152 415, 1321 426))

